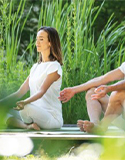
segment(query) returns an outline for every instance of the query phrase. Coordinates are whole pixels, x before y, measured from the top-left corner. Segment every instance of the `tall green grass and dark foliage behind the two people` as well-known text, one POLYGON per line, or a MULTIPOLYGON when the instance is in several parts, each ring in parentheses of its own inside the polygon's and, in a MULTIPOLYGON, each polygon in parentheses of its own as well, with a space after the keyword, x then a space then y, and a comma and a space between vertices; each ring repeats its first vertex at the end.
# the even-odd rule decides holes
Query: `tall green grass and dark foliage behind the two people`
MULTIPOLYGON (((120 66, 125 61, 124 8, 119 0, 0 0, 0 98, 16 91, 37 62, 40 26, 59 32, 62 89, 120 66)), ((63 117, 65 124, 88 119, 85 92, 63 104, 63 117)))

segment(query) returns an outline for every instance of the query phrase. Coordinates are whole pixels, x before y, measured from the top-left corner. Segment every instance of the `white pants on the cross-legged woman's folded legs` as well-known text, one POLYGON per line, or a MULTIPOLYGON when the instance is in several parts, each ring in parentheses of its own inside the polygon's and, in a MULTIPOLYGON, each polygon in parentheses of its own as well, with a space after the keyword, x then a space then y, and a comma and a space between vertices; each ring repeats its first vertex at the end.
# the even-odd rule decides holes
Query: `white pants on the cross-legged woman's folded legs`
POLYGON ((24 123, 37 123, 40 128, 53 129, 61 128, 63 125, 63 119, 58 120, 49 111, 42 107, 36 107, 32 104, 25 105, 21 111, 13 111, 10 113, 15 118, 22 119, 24 123), (20 113, 20 115, 19 115, 20 113))

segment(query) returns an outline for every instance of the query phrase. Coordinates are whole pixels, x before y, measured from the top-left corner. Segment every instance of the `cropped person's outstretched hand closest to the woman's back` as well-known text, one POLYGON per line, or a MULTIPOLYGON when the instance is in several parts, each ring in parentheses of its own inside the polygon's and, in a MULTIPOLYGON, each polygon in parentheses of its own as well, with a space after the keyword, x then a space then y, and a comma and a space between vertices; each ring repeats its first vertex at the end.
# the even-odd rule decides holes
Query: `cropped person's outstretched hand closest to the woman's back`
POLYGON ((65 102, 68 102, 74 95, 75 95, 75 92, 73 88, 65 88, 60 92, 59 100, 65 103, 65 102))

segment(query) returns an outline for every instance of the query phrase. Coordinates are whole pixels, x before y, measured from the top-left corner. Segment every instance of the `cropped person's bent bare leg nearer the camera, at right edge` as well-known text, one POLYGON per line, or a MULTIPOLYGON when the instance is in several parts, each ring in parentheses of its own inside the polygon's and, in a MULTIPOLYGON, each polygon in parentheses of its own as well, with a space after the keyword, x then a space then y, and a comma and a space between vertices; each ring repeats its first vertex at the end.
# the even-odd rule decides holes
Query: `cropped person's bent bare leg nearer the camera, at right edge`
MULTIPOLYGON (((104 115, 104 118, 102 119, 102 121, 100 123, 95 123, 96 121, 91 121, 91 117, 90 117, 90 121, 82 121, 83 129, 87 132, 93 132, 96 129, 100 130, 100 128, 101 128, 101 130, 105 131, 107 129, 108 125, 123 112, 124 100, 125 100, 125 91, 112 92, 112 94, 110 95, 110 98, 109 98, 107 110, 105 112, 105 115, 104 115)), ((99 100, 99 101, 101 101, 101 100, 99 100)), ((93 106, 91 106, 91 108, 92 107, 93 106)), ((87 108, 88 108, 88 106, 87 106, 87 108)), ((78 123, 79 123, 79 121, 78 121, 78 123)))

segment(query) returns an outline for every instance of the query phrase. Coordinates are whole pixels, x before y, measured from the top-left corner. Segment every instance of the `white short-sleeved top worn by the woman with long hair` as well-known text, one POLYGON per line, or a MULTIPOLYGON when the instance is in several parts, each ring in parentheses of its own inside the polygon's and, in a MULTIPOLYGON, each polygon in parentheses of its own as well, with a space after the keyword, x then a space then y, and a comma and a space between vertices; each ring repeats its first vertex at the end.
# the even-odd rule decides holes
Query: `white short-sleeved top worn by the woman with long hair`
POLYGON ((60 78, 48 88, 47 92, 40 99, 31 102, 31 104, 36 107, 43 107, 55 118, 62 119, 62 104, 58 99, 62 84, 62 68, 58 61, 41 62, 33 65, 29 76, 30 96, 39 91, 48 74, 56 71, 60 78))

